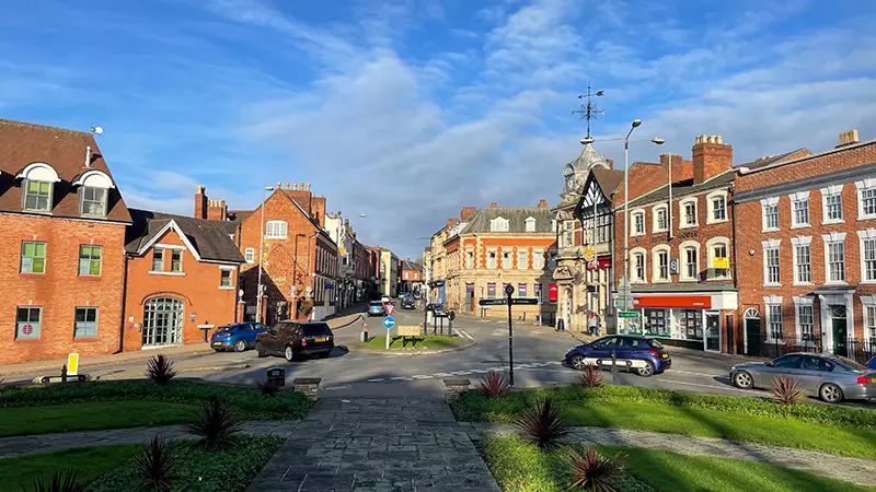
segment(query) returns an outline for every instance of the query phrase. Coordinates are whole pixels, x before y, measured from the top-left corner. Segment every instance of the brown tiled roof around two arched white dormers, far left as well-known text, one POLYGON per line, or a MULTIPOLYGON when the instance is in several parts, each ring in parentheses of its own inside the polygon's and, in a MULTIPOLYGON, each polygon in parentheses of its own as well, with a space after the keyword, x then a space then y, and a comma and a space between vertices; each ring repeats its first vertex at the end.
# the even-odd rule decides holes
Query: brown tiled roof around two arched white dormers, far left
MULTIPOLYGON (((115 185, 91 133, 0 118, 0 211, 22 211, 21 180, 15 175, 33 163, 48 164, 60 178, 53 189, 51 216, 80 216, 79 197, 72 183, 83 172, 100 171, 115 185), (85 167, 87 147, 92 150, 89 167, 85 167)), ((118 188, 108 191, 106 220, 129 222, 130 214, 118 188)))

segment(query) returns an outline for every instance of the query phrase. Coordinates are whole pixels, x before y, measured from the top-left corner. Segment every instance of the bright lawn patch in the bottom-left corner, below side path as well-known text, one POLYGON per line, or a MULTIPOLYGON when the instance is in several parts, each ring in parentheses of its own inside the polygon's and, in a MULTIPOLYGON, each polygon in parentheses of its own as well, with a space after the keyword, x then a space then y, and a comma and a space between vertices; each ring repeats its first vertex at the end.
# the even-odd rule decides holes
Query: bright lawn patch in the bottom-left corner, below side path
POLYGON ((77 482, 87 484, 127 461, 139 449, 140 446, 137 445, 80 447, 55 453, 0 458, 0 490, 22 490, 22 487, 25 487, 30 491, 37 477, 42 476, 44 481, 47 481, 55 470, 65 470, 71 467, 78 471, 77 482))

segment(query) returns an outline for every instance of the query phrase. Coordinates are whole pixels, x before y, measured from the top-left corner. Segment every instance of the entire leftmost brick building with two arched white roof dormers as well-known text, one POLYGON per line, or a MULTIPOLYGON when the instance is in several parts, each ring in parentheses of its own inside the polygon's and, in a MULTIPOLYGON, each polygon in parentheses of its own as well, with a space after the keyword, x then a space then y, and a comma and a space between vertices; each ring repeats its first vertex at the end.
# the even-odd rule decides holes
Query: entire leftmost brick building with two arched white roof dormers
POLYGON ((0 119, 0 364, 122 350, 129 223, 90 133, 0 119))

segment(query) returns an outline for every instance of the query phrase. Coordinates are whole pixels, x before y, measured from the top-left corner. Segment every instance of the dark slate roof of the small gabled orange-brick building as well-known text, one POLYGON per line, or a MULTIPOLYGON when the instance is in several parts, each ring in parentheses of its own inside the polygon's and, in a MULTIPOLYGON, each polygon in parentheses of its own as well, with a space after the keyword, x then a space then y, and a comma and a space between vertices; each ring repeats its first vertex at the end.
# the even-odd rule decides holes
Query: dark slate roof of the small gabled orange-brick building
POLYGON ((125 249, 129 254, 139 253, 143 246, 166 231, 170 222, 174 222, 201 260, 245 262, 238 246, 229 236, 228 224, 233 222, 209 221, 138 209, 130 209, 130 215, 134 223, 125 234, 125 249))

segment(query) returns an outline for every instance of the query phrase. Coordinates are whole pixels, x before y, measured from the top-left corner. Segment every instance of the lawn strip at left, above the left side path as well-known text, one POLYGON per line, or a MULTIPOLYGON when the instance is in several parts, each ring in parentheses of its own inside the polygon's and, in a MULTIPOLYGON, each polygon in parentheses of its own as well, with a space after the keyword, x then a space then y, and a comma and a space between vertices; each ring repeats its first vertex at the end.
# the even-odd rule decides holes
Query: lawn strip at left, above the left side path
POLYGON ((199 411, 194 403, 148 400, 0 408, 0 436, 185 423, 199 411))

